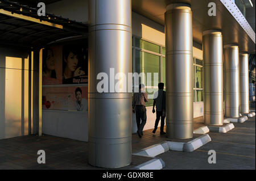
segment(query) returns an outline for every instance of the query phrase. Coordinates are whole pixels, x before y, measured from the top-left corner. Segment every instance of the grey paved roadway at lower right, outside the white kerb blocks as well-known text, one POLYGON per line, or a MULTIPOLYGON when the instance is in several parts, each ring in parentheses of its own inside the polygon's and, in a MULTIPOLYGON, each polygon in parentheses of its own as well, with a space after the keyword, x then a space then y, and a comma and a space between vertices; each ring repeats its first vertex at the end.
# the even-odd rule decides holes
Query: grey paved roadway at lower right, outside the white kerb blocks
POLYGON ((166 163, 164 169, 255 170, 255 117, 234 125, 227 133, 210 132, 212 141, 191 153, 167 151, 158 155, 166 163), (216 164, 208 163, 209 150, 216 151, 216 164))

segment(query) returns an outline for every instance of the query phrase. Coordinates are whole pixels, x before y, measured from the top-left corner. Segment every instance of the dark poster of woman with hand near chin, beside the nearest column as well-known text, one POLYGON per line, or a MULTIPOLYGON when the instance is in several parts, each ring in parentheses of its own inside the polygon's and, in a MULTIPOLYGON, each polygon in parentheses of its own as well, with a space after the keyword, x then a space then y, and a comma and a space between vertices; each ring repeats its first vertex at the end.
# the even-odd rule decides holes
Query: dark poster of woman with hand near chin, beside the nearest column
POLYGON ((88 48, 63 46, 63 84, 88 82, 88 48))

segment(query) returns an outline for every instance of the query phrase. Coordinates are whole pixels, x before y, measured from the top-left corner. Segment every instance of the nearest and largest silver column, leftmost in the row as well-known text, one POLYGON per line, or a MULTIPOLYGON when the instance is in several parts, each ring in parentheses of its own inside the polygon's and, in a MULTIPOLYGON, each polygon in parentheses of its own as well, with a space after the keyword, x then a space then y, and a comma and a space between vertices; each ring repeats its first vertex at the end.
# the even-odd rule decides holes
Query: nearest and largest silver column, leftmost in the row
POLYGON ((88 155, 93 166, 131 163, 131 93, 119 76, 132 72, 131 36, 130 0, 89 1, 88 155), (126 90, 117 92, 117 82, 126 90))

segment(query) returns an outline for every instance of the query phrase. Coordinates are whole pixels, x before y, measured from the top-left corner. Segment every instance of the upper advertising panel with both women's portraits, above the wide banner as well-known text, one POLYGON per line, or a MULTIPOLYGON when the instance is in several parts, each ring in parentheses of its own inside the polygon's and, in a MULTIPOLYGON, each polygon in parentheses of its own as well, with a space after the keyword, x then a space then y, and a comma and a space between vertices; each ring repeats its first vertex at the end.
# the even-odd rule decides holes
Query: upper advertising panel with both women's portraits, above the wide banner
POLYGON ((88 47, 58 45, 43 49, 43 85, 88 83, 88 47))

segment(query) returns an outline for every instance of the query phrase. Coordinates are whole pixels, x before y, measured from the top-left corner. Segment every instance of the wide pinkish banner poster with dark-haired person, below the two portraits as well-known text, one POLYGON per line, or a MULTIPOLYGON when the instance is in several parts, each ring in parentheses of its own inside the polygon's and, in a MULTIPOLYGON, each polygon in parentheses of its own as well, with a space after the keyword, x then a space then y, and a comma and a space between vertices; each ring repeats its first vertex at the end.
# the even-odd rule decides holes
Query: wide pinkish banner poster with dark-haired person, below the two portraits
POLYGON ((44 87, 43 109, 88 111, 88 87, 44 87))

